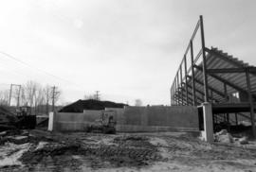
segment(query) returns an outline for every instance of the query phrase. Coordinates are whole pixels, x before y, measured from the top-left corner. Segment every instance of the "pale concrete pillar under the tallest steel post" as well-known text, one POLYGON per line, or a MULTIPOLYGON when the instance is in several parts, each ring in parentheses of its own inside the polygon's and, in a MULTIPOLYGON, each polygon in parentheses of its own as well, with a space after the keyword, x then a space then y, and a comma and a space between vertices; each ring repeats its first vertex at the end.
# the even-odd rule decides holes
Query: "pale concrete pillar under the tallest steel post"
POLYGON ((206 142, 213 143, 213 124, 212 124, 212 108, 209 102, 202 104, 204 113, 204 133, 203 137, 206 142))

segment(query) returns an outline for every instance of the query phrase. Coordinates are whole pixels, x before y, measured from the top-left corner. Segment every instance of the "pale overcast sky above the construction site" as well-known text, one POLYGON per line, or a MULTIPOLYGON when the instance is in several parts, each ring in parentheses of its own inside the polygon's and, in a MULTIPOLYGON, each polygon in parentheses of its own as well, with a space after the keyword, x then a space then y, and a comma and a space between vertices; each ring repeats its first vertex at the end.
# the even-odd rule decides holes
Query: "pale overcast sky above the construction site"
POLYGON ((0 52, 32 67, 0 54, 0 88, 35 80, 60 87, 62 102, 99 90, 168 105, 200 14, 208 47, 256 65, 255 9, 253 0, 1 1, 0 52))

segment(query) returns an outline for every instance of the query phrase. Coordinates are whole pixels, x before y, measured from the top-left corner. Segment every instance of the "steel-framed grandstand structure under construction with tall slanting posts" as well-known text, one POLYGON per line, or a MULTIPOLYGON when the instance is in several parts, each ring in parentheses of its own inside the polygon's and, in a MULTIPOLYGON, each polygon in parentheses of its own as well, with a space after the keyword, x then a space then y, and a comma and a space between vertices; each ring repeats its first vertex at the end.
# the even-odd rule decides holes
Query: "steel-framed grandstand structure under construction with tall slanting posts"
MULTIPOLYGON (((209 102, 213 126, 227 121, 237 125, 238 119, 244 117, 251 122, 255 137, 255 98, 256 67, 216 47, 206 47, 203 17, 200 16, 174 77, 172 106, 197 106, 200 114, 200 105, 209 102), (195 37, 199 37, 197 51, 195 37)), ((201 118, 199 115, 199 122, 201 118)))

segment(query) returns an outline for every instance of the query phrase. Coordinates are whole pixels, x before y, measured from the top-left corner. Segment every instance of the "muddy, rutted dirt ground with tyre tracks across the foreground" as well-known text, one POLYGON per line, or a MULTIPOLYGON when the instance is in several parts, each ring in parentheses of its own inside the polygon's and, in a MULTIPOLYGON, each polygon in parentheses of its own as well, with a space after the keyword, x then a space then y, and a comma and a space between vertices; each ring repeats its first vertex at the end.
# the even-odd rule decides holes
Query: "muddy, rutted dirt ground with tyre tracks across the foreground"
POLYGON ((104 135, 34 129, 27 136, 23 143, 2 142, 0 171, 256 171, 252 141, 210 145, 191 132, 104 135))

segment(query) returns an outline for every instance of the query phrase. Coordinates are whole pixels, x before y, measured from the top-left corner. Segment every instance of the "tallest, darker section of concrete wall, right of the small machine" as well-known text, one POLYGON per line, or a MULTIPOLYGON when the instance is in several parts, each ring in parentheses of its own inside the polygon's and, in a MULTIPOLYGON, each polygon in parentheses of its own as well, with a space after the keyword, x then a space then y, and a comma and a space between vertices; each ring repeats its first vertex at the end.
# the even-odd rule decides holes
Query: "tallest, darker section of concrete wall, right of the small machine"
POLYGON ((198 111, 196 107, 126 107, 119 113, 124 123, 117 128, 120 131, 167 131, 198 130, 198 111))

